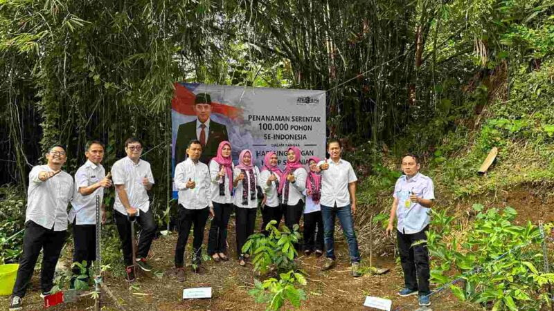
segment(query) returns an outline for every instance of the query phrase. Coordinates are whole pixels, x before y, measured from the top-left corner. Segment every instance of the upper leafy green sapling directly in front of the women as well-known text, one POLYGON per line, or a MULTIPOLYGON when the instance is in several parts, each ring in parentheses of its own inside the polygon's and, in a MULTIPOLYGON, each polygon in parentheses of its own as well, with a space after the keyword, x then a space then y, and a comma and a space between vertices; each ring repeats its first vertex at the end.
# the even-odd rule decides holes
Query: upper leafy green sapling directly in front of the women
POLYGON ((298 232, 298 225, 294 225, 292 231, 283 226, 279 231, 275 220, 271 220, 265 229, 269 232, 264 234, 252 234, 242 246, 244 254, 253 256, 252 263, 254 270, 265 274, 268 271, 283 272, 294 270, 296 263, 294 257, 298 255, 294 249, 294 243, 298 243, 301 234, 298 232))

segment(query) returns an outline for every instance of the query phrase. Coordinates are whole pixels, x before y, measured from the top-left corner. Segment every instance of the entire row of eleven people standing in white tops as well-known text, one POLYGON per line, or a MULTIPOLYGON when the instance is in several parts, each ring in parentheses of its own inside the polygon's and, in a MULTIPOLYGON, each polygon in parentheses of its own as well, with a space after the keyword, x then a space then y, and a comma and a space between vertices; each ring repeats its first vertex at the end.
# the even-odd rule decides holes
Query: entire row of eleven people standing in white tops
MULTIPOLYGON (((360 276, 360 255, 352 216, 356 211, 357 177, 352 165, 341 158, 341 142, 330 140, 330 158, 308 159, 309 170, 301 164, 301 151, 289 147, 284 169, 278 167, 275 152, 266 154, 262 169, 254 165, 253 153, 242 150, 235 165, 231 158, 231 143, 222 141, 217 155, 208 164, 200 161, 204 145, 190 140, 186 159, 175 167, 174 182, 178 189, 179 236, 175 247, 177 279, 184 281, 184 252, 190 229, 193 228, 193 270, 198 272, 201 261, 204 228, 208 216, 213 216, 208 234, 208 254, 213 261, 229 261, 227 227, 233 211, 236 217, 236 255, 239 265, 246 265, 247 254, 242 246, 253 234, 259 201, 262 204, 262 232, 267 223, 276 220, 292 228, 304 215, 304 254, 326 255, 322 270, 334 267, 334 223, 339 218, 348 242, 352 276, 360 276)), ((23 254, 15 287, 10 297, 10 310, 21 310, 22 298, 42 250, 41 296, 51 294, 57 260, 66 238, 68 223, 73 224, 73 262, 96 260, 96 198, 100 202, 106 188, 116 189, 114 220, 118 229, 127 281, 134 281, 134 268, 151 271, 146 258, 157 232, 150 210, 148 191, 154 185, 150 163, 141 159, 143 144, 136 138, 125 141, 127 156, 116 161, 106 174, 102 167, 104 145, 91 141, 85 147, 85 162, 75 173, 75 179, 62 171, 66 162, 64 147, 55 145, 46 153, 47 164, 33 167, 29 174, 23 254), (71 203, 69 216, 67 206, 71 203), (138 246, 134 250, 134 223, 141 226, 138 246)), ((413 155, 402 158, 404 176, 399 178, 394 192, 391 219, 387 232, 392 232, 398 218, 397 239, 400 247, 405 288, 398 294, 420 294, 420 305, 429 305, 429 256, 425 245, 411 247, 425 238, 429 225, 429 208, 433 205, 434 189, 430 178, 418 173, 419 160, 413 155), (427 300, 425 300, 427 299, 427 300)), ((102 222, 105 206, 102 205, 102 222)), ((74 267, 71 286, 79 274, 74 267)), ((87 281, 84 279, 83 281, 87 281)))

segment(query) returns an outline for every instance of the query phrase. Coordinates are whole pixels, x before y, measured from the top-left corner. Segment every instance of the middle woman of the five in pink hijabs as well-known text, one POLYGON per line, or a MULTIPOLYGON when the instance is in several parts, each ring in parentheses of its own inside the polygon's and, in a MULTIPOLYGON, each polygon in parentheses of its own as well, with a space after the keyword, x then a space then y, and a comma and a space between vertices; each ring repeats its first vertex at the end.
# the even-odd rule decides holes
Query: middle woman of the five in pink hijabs
POLYGON ((277 166, 278 158, 274 151, 265 154, 264 167, 260 173, 260 183, 265 190, 266 200, 265 205, 262 205, 262 233, 266 236, 268 232, 265 226, 271 221, 276 220, 275 227, 279 227, 281 217, 283 217, 283 207, 279 202, 279 182, 281 180, 282 171, 277 166))

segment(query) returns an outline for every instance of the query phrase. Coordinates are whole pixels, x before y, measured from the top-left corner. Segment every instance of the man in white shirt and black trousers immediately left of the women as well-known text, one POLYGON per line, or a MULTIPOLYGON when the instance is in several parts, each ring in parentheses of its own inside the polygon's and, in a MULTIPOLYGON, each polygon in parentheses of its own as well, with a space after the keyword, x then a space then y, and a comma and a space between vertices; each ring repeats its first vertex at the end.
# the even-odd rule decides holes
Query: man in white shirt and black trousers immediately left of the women
POLYGON ((177 280, 185 281, 184 254, 190 227, 193 232, 193 270, 199 271, 202 262, 202 240, 208 214, 213 216, 211 178, 208 165, 199 161, 202 144, 198 140, 188 142, 188 158, 175 167, 175 187, 179 190, 179 237, 175 247, 177 280))

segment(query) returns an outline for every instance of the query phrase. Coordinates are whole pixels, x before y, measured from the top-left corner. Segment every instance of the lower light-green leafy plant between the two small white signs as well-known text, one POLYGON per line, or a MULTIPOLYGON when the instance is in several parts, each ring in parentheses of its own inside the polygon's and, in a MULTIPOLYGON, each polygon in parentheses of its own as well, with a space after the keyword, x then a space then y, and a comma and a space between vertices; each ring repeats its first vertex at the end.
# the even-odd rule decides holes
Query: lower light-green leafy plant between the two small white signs
POLYGON ((306 279, 293 270, 281 273, 279 277, 279 280, 275 278, 269 278, 263 282, 255 280, 255 288, 248 292, 249 295, 256 299, 256 303, 267 303, 266 310, 279 310, 286 301, 295 308, 299 308, 301 301, 306 300, 306 294, 295 285, 306 285, 306 279))

